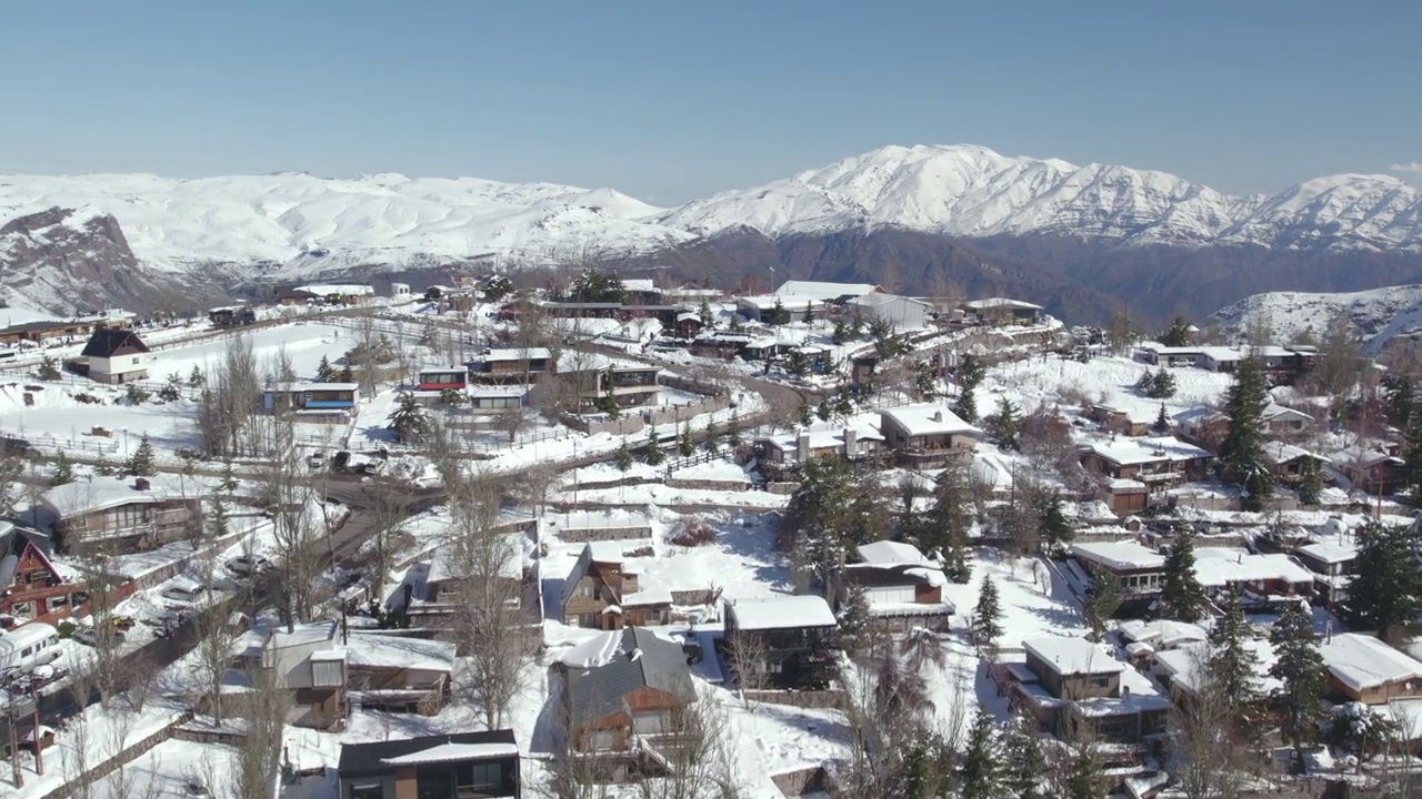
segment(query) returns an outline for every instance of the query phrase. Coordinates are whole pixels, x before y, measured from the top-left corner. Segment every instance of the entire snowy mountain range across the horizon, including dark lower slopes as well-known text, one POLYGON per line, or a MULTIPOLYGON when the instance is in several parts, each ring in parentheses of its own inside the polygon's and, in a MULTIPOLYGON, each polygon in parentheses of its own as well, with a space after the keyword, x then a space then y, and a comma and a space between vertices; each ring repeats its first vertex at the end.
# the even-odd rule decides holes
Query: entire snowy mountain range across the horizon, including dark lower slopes
POLYGON ((0 291, 55 311, 95 301, 77 289, 105 264, 132 273, 112 300, 134 307, 260 283, 603 263, 728 284, 764 286, 775 269, 778 280, 1007 293, 1084 321, 1422 281, 1422 193, 1395 178, 1234 196, 971 145, 886 146, 673 209, 611 189, 388 173, 0 176, 0 222, 20 218, 36 219, 0 230, 0 291), (64 257, 38 227, 63 232, 64 257))

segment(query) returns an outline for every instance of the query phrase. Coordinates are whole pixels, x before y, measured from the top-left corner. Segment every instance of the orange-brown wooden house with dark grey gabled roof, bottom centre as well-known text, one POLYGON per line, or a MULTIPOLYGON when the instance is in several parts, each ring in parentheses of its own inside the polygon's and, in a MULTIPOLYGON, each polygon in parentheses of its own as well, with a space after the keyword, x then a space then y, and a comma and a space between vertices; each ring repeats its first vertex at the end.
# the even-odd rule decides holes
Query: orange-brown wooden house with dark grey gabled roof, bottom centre
POLYGON ((621 751, 674 732, 695 685, 680 644, 627 627, 559 655, 567 735, 577 751, 621 751))

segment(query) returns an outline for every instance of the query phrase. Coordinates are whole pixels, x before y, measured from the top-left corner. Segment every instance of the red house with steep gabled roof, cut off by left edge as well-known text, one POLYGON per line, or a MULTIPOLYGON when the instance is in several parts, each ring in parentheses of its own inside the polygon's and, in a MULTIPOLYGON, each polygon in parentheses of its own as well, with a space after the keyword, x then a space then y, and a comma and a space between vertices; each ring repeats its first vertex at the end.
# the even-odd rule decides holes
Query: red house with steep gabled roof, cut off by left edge
POLYGON ((0 520, 0 627, 55 623, 85 599, 82 583, 55 569, 50 536, 0 520))

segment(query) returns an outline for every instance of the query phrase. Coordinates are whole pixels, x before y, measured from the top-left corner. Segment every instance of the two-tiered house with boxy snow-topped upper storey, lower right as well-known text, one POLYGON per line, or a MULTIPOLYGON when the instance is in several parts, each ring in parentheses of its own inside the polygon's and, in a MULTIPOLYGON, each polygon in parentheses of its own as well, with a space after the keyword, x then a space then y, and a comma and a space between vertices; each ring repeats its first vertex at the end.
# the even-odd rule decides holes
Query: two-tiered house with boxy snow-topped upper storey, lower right
POLYGON ((1103 744, 1140 744, 1166 734, 1170 701, 1150 681, 1085 638, 1022 641, 1025 664, 1008 668, 1012 701, 1052 735, 1086 732, 1103 744))

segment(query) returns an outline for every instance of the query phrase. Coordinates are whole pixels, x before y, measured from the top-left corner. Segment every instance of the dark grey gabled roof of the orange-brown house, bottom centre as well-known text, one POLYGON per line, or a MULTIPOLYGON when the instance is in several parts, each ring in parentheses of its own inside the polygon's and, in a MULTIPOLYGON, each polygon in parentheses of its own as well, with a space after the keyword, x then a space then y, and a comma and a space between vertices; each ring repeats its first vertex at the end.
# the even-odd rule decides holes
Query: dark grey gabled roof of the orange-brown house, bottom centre
POLYGON ((626 627, 619 651, 607 664, 567 670, 573 724, 582 726, 626 709, 623 697, 637 688, 656 688, 688 699, 694 695, 681 647, 641 627, 626 627))

